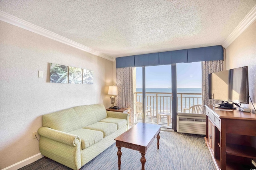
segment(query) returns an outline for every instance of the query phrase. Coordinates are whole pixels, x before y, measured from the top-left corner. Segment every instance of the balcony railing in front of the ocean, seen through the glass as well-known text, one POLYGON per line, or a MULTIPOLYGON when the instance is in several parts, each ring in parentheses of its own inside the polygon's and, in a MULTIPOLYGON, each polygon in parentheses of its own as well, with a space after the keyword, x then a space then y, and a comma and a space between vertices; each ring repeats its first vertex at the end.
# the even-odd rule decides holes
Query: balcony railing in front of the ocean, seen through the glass
MULTIPOLYGON (((142 102, 142 92, 135 92, 136 102, 142 102)), ((146 92, 146 106, 151 106, 153 116, 156 113, 172 112, 172 93, 146 92)), ((177 93, 177 112, 182 112, 184 108, 202 104, 201 93, 177 93)))

